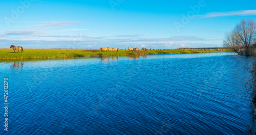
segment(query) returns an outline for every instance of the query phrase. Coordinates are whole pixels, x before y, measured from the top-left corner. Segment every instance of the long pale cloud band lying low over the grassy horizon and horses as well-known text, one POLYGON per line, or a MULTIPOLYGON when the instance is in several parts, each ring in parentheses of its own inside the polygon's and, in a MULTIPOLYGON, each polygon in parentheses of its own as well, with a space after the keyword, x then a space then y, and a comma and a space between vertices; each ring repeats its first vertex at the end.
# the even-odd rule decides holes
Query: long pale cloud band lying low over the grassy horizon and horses
MULTIPOLYGON (((73 31, 79 29, 63 30, 73 31)), ((82 29, 81 29, 82 30, 82 29)), ((60 48, 68 48, 69 45, 75 48, 99 48, 102 46, 109 47, 147 47, 147 48, 178 48, 191 46, 204 46, 207 43, 218 39, 202 38, 197 36, 173 36, 167 38, 145 38, 140 35, 117 35, 104 37, 89 37, 83 35, 55 35, 55 31, 5 31, 0 34, 0 42, 8 46, 10 44, 20 44, 24 47, 35 44, 47 44, 45 47, 52 48, 59 46, 60 48), (116 37, 116 38, 113 38, 116 37), (122 38, 123 37, 123 38, 122 38)), ((221 40, 222 41, 222 40, 221 40)), ((221 43, 221 42, 220 42, 221 43)))

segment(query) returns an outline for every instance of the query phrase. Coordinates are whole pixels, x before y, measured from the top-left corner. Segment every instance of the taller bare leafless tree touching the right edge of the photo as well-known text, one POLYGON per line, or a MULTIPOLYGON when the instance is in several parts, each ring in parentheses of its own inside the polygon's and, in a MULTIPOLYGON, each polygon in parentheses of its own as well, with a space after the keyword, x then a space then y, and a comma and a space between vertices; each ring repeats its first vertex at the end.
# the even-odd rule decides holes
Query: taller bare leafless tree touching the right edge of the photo
POLYGON ((246 56, 249 56, 249 49, 256 40, 256 25, 254 20, 242 19, 241 22, 236 25, 234 31, 236 31, 240 38, 246 56))

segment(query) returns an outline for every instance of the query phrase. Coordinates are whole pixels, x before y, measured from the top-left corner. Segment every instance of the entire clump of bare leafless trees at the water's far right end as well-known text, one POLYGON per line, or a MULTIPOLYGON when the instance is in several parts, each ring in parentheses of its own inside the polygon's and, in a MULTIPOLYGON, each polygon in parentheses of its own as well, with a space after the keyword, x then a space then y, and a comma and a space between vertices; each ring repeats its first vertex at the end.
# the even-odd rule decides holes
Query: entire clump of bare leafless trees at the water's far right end
POLYGON ((244 50, 250 56, 256 47, 256 24, 251 18, 243 18, 233 30, 225 33, 224 46, 231 47, 235 52, 244 50))

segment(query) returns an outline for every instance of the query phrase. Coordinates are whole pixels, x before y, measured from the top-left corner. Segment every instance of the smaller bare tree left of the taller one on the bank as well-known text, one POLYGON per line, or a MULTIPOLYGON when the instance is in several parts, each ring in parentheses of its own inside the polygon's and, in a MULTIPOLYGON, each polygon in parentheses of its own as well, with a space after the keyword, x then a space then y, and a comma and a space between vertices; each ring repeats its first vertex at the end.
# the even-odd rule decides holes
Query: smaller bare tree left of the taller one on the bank
POLYGON ((231 47, 237 53, 239 53, 239 51, 242 49, 240 37, 234 30, 225 33, 225 39, 223 43, 224 46, 231 47))

